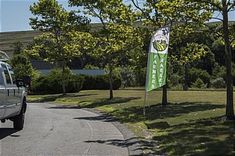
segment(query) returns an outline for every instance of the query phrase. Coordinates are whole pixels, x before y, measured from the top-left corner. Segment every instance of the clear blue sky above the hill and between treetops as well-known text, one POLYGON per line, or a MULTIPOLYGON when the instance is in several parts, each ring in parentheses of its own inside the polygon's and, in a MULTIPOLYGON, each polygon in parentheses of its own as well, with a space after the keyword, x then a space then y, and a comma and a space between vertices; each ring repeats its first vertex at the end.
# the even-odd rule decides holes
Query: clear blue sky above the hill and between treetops
MULTIPOLYGON (((58 0, 68 9, 67 0, 58 0)), ((0 32, 30 30, 29 18, 33 17, 29 6, 37 0, 0 0, 0 32)), ((230 20, 235 21, 235 12, 230 13, 230 20)), ((92 19, 92 22, 98 22, 92 19)))

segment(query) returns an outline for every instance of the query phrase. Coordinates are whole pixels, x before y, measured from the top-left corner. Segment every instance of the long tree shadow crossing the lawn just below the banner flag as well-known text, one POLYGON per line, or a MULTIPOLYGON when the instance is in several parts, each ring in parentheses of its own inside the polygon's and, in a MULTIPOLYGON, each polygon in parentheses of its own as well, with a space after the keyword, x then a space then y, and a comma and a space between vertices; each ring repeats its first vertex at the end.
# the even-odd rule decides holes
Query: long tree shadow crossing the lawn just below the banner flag
POLYGON ((152 121, 155 119, 164 119, 169 117, 177 117, 182 114, 208 111, 213 109, 224 108, 224 105, 210 104, 210 103, 169 103, 167 107, 162 107, 161 104, 152 105, 146 108, 146 116, 143 116, 143 107, 127 107, 123 109, 117 109, 111 114, 118 116, 121 122, 139 122, 139 121, 152 121))

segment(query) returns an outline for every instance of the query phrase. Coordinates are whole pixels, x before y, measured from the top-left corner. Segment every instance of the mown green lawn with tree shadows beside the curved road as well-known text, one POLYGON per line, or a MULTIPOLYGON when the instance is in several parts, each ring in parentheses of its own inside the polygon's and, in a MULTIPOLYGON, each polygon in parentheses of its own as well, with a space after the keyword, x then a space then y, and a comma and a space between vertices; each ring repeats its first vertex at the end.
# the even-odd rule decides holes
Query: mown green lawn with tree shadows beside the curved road
POLYGON ((147 155, 235 154, 235 123, 224 120, 224 91, 169 91, 165 108, 160 104, 161 92, 154 91, 148 96, 145 117, 143 90, 117 90, 113 100, 107 99, 108 94, 82 91, 66 96, 34 95, 29 101, 96 108, 111 114, 139 136, 147 155))

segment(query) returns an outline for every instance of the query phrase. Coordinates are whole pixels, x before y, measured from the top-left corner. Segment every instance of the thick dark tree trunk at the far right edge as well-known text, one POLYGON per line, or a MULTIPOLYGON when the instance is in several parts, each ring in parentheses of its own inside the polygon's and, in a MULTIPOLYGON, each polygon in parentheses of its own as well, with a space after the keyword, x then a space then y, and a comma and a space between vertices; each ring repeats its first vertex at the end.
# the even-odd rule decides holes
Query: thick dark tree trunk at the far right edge
POLYGON ((232 77, 232 53, 229 41, 228 29, 228 5, 227 1, 223 0, 223 32, 225 42, 226 55, 226 83, 227 83, 227 101, 226 101, 226 117, 227 120, 235 120, 233 108, 233 77, 232 77))

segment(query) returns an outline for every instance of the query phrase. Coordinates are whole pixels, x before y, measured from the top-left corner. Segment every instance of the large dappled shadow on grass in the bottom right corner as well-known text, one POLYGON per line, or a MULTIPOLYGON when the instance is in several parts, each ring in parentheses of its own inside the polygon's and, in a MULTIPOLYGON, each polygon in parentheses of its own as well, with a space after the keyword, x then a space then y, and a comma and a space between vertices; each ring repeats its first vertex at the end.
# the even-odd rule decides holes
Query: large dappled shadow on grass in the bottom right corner
POLYGON ((164 131, 167 132, 165 135, 153 137, 160 145, 152 148, 155 155, 235 154, 234 121, 226 122, 221 118, 211 118, 171 126, 164 131))

